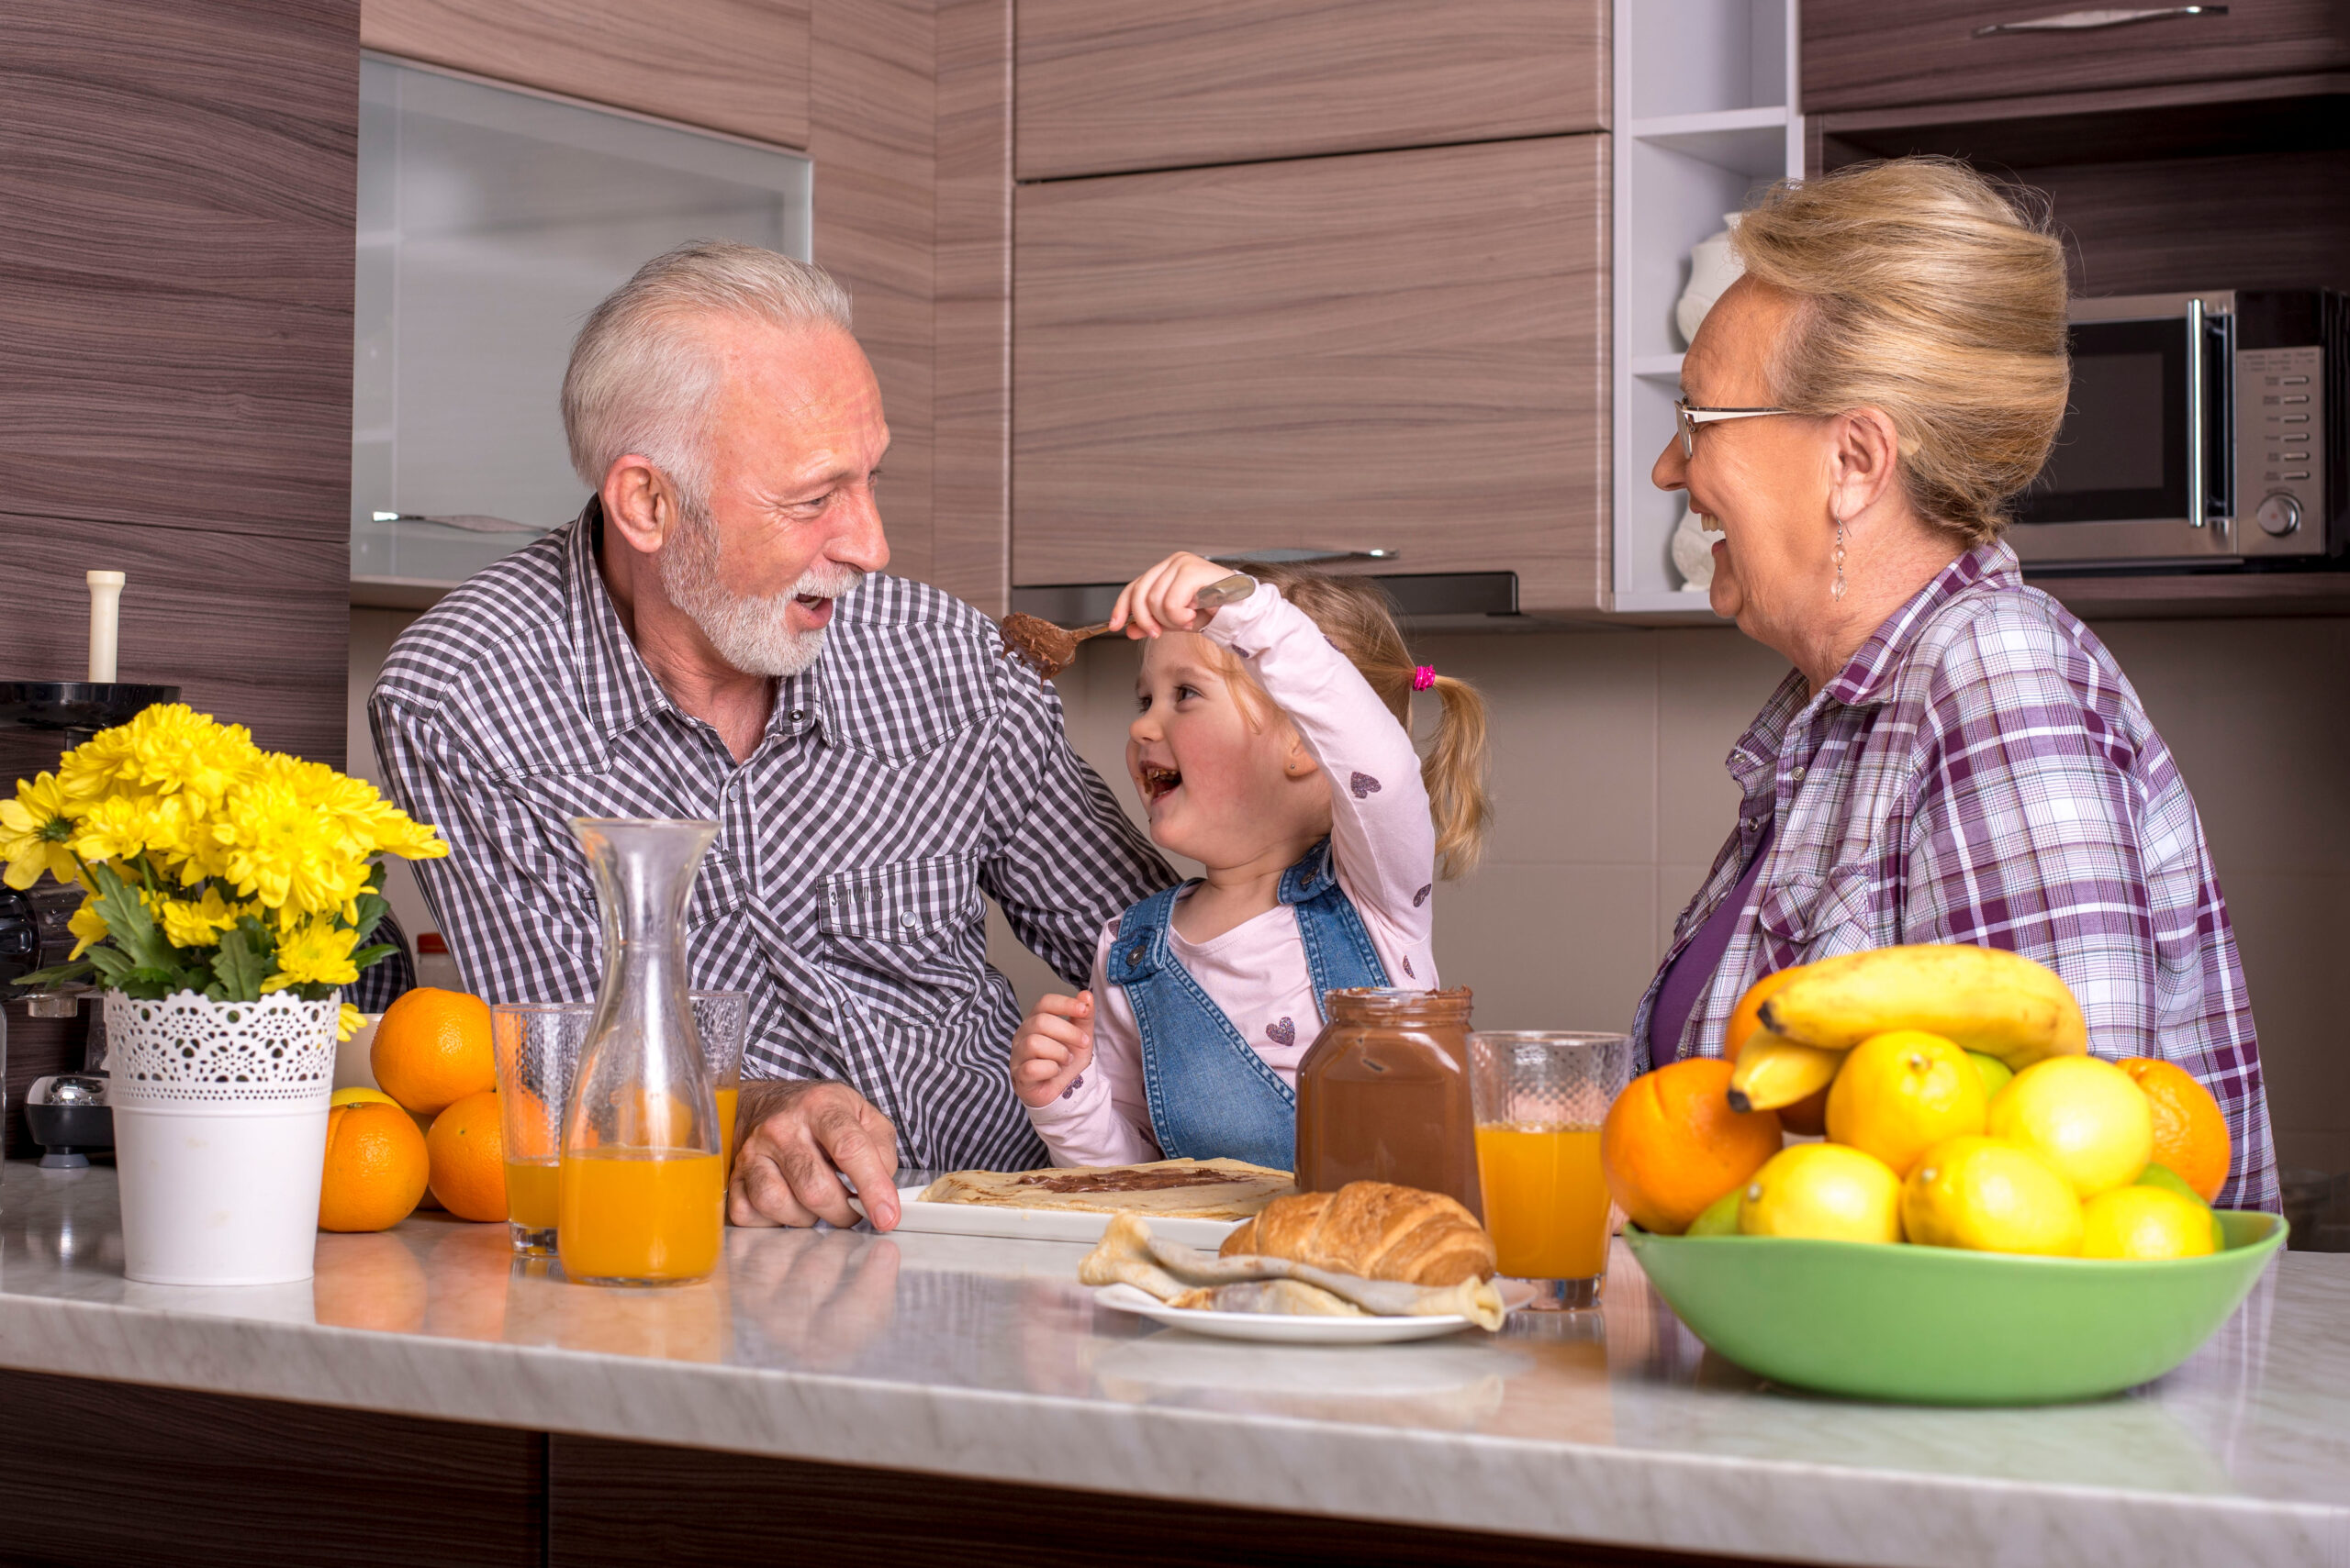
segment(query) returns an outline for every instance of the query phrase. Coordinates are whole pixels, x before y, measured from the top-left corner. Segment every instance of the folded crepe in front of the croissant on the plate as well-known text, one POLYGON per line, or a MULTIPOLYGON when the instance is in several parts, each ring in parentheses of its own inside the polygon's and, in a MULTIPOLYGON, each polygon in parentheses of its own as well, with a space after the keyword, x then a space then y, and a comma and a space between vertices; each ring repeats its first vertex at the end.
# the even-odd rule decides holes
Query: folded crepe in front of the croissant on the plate
MULTIPOLYGON (((1429 1286, 1401 1279, 1363 1279, 1335 1270, 1297 1263, 1295 1258, 1267 1258, 1257 1253, 1217 1258, 1182 1242, 1154 1237, 1149 1221, 1121 1214, 1109 1221, 1102 1244, 1076 1265, 1076 1277, 1086 1284, 1130 1284, 1168 1305, 1206 1305, 1210 1312, 1267 1312, 1295 1307, 1267 1307, 1267 1300, 1311 1300, 1292 1291, 1236 1291, 1234 1286, 1257 1286, 1264 1282, 1295 1282, 1311 1286, 1344 1305, 1372 1317, 1466 1317, 1478 1329, 1502 1326, 1502 1293, 1490 1279, 1462 1279, 1457 1284, 1429 1286), (1182 1300, 1187 1298, 1189 1300, 1182 1300), (1238 1305, 1238 1303, 1253 1305, 1238 1305)), ((1328 1307, 1311 1307, 1328 1312, 1328 1307)))

